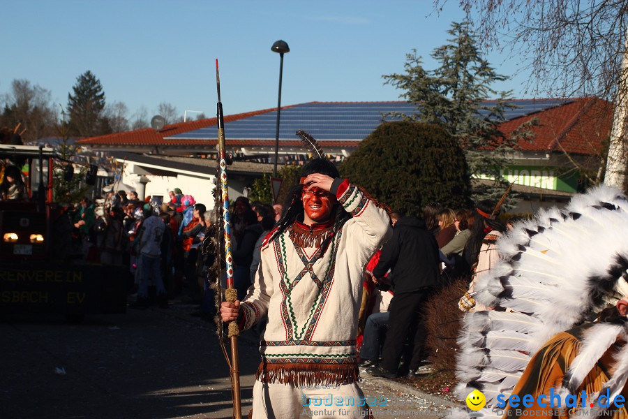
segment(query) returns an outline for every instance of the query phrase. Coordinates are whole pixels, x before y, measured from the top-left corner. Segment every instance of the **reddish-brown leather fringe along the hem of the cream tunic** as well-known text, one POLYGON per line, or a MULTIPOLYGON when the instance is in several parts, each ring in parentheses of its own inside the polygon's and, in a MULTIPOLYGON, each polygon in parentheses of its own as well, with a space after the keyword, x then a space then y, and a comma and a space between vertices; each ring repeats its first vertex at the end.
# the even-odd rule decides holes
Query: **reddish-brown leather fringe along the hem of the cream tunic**
POLYGON ((303 385, 343 385, 357 383, 357 364, 267 364, 261 362, 255 378, 262 383, 303 385))

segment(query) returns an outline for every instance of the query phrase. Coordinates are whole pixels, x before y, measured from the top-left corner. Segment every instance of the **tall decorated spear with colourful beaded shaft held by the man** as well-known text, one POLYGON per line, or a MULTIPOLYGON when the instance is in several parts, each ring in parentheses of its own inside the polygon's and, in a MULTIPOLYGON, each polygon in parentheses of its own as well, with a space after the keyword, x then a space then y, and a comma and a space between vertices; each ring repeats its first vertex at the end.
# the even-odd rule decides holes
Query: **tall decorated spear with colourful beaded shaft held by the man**
MULTIPOLYGON (((216 90, 218 91, 218 105, 216 117, 218 119, 218 165, 220 166, 220 191, 223 200, 223 231, 225 242, 225 267, 227 270, 227 289, 225 300, 235 302, 237 290, 233 286, 233 256, 231 252, 231 216, 229 213, 229 192, 227 191, 227 154, 225 152, 225 121, 223 117, 223 103, 220 102, 220 75, 218 74, 218 59, 216 59, 216 90)), ((237 322, 229 323, 229 339, 231 343, 231 385, 233 393, 234 418, 241 419, 240 402, 240 371, 238 360, 238 336, 240 331, 237 322)))

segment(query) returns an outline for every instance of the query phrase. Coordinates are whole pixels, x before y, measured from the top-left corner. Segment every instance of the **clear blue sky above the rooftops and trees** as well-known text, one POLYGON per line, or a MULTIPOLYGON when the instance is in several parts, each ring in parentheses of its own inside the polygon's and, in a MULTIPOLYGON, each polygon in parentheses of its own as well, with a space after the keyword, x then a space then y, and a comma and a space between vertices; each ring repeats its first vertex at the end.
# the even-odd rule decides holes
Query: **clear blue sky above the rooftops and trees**
MULTIPOLYGON (((449 1, 437 13, 414 1, 0 0, 0 94, 14 79, 52 91, 66 106, 78 75, 91 70, 107 102, 158 103, 216 113, 214 60, 220 62, 225 115, 277 105, 278 39, 290 45, 283 65, 282 105, 309 101, 394 101, 401 91, 382 75, 403 72, 416 48, 424 67, 463 13, 449 1)), ((528 98, 518 57, 489 61, 515 75, 498 89, 528 98)))

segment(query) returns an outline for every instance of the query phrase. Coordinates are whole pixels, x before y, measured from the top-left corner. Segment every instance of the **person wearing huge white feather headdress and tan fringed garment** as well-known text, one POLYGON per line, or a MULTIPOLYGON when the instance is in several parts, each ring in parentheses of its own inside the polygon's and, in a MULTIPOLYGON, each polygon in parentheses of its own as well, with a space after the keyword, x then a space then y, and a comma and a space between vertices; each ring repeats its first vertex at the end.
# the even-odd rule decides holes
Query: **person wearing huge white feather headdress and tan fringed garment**
MULTIPOLYGON (((627 234, 628 198, 598 186, 571 198, 564 209, 541 210, 502 235, 500 260, 474 288, 474 299, 495 309, 463 319, 456 395, 481 391, 486 406, 479 413, 486 418, 556 411, 564 417, 597 416, 605 404, 612 406, 628 379, 627 234), (592 323, 599 313, 601 320, 592 323), (562 409, 551 406, 550 390, 560 395, 562 409), (513 394, 519 404, 507 406, 504 401, 513 394), (529 406, 523 406, 526 395, 529 406), (568 396, 577 408, 567 406, 568 396)), ((605 413, 627 416, 625 408, 605 413)), ((454 412, 458 415, 468 417, 454 412)))

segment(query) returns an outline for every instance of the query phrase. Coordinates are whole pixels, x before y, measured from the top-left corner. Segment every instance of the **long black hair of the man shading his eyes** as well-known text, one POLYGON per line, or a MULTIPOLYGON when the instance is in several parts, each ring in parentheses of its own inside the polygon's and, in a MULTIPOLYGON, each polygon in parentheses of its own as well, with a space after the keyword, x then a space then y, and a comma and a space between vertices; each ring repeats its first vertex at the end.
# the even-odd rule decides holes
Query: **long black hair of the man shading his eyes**
MULTIPOLYGON (((327 159, 312 159, 301 169, 301 177, 306 177, 313 173, 320 173, 320 175, 327 175, 329 177, 340 177, 338 169, 334 166, 334 163, 327 159)), ((295 184, 287 193, 285 204, 283 205, 283 214, 281 219, 277 221, 277 227, 271 236, 270 240, 273 240, 278 235, 281 235, 288 227, 292 226, 294 221, 302 221, 305 209, 303 202, 301 201, 301 192, 303 191, 302 184, 295 184), (300 219, 300 220, 299 220, 300 219)), ((331 216, 334 218, 334 232, 340 230, 344 223, 351 218, 351 214, 346 212, 340 203, 336 203, 331 210, 331 216)))

